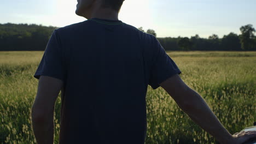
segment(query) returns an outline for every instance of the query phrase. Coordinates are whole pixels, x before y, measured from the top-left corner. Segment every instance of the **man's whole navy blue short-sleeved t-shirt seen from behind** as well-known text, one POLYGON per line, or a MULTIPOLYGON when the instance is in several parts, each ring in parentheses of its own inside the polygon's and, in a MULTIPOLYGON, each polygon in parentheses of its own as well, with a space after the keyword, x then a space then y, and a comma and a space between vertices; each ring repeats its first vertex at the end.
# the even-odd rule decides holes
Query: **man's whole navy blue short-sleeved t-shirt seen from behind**
POLYGON ((59 143, 143 144, 146 93, 181 71, 152 34, 92 18, 57 28, 34 74, 63 81, 59 143))

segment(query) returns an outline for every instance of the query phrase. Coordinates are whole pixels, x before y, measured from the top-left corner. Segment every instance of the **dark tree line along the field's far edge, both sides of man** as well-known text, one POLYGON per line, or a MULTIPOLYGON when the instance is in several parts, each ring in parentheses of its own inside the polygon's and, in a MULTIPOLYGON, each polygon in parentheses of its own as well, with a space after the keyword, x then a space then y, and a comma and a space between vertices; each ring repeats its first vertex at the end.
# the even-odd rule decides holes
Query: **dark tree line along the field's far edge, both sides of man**
MULTIPOLYGON (((35 24, 0 24, 0 51, 44 51, 56 28, 35 24)), ((142 27, 138 29, 144 32, 142 27)), ((230 32, 223 38, 219 38, 217 34, 200 38, 196 34, 190 38, 166 37, 158 40, 166 51, 255 51, 256 37, 253 25, 242 26, 240 31, 240 35, 230 32)), ((153 29, 148 29, 146 32, 156 37, 153 29)))

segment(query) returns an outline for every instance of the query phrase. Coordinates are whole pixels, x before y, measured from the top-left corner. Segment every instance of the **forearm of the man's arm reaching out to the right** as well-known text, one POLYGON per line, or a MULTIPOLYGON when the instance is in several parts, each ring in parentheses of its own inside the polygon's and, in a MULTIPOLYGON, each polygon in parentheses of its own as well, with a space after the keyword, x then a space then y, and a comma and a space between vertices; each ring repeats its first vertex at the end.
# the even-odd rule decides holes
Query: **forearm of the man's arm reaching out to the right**
POLYGON ((205 100, 193 89, 191 89, 191 91, 193 91, 190 92, 191 99, 193 99, 190 101, 191 104, 187 105, 187 107, 181 107, 181 109, 217 141, 220 143, 228 143, 228 141, 232 139, 232 135, 219 122, 205 100))

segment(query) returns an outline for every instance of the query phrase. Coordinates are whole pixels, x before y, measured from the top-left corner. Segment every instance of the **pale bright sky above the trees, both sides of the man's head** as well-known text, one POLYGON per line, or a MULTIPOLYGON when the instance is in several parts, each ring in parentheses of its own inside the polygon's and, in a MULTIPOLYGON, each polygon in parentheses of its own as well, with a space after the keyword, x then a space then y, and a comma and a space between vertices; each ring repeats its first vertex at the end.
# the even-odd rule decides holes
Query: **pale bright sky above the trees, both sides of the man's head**
MULTIPOLYGON (((12 0, 0 4, 0 23, 64 27, 85 21, 75 15, 77 0, 12 0)), ((256 29, 256 0, 125 0, 119 20, 157 37, 219 38, 248 24, 256 29)))

